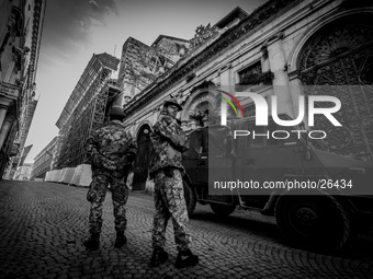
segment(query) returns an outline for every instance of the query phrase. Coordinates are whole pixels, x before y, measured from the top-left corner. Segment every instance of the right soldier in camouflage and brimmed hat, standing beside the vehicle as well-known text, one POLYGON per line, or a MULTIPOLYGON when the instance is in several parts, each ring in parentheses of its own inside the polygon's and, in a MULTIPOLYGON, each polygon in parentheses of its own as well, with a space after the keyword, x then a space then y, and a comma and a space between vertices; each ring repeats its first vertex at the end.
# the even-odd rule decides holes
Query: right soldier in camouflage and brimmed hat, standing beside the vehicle
POLYGON ((182 183, 185 171, 181 164, 182 152, 187 150, 187 137, 180 121, 176 118, 179 111, 182 111, 182 107, 177 101, 167 101, 151 135, 152 153, 149 173, 155 181, 156 206, 151 266, 159 266, 168 259, 163 247, 167 222, 170 218, 179 251, 176 266, 187 267, 199 263, 199 257, 189 248, 190 239, 187 232, 188 211, 182 183))

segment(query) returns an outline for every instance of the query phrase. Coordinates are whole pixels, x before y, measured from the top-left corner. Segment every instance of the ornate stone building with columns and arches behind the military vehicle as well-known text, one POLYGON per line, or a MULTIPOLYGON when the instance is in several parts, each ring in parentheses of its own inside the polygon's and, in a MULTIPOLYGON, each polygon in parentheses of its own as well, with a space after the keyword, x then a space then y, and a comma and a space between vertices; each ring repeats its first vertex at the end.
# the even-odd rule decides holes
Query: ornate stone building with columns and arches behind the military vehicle
MULTIPOLYGON (((200 26, 187 54, 124 102, 124 124, 139 144, 138 161, 148 162, 140 150, 148 150, 149 129, 166 100, 177 97, 189 130, 205 125, 203 119, 219 119, 216 89, 222 89, 234 96, 250 91, 269 106, 276 96, 278 113, 293 118, 299 96, 336 96, 341 108, 335 117, 342 126, 316 117, 307 128, 327 131, 325 151, 372 162, 372 14, 370 1, 270 0, 250 14, 236 8, 215 25, 200 26)), ((252 98, 239 103, 244 116, 256 114, 252 98)), ((135 177, 144 177, 139 189, 145 168, 135 170, 135 177)))

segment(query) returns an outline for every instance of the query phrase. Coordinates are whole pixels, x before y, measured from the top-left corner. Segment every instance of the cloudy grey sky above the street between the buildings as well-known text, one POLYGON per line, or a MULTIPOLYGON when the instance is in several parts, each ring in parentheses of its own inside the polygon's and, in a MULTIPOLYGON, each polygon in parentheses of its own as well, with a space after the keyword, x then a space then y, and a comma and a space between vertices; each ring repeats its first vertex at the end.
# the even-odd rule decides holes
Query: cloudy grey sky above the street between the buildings
POLYGON ((265 0, 47 0, 36 71, 38 104, 25 162, 54 137, 67 100, 93 54, 121 58, 128 37, 151 45, 159 35, 191 39, 197 26, 214 25, 236 7, 250 13, 265 0))

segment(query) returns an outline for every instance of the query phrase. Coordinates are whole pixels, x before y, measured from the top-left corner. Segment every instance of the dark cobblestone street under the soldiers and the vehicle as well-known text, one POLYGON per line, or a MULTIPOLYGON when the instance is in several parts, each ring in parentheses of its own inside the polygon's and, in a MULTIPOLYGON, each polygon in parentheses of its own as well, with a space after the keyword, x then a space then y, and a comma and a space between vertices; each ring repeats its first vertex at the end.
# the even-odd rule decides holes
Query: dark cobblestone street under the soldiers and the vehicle
POLYGON ((116 249, 111 193, 106 195, 100 249, 88 236, 87 188, 36 182, 0 182, 1 278, 373 278, 373 241, 359 236, 337 255, 287 246, 271 218, 237 210, 217 218, 197 206, 190 220, 200 265, 177 269, 171 223, 169 260, 149 267, 152 197, 131 193, 127 244, 116 249))

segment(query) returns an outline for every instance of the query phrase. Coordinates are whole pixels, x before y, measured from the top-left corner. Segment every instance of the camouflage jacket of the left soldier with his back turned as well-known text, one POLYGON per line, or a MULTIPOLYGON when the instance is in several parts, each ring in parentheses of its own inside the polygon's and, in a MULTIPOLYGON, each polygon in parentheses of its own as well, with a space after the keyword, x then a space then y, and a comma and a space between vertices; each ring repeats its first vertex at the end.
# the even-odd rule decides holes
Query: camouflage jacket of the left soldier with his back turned
POLYGON ((93 174, 124 175, 135 160, 137 146, 118 120, 94 130, 87 140, 88 163, 93 174))

